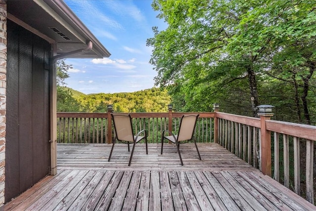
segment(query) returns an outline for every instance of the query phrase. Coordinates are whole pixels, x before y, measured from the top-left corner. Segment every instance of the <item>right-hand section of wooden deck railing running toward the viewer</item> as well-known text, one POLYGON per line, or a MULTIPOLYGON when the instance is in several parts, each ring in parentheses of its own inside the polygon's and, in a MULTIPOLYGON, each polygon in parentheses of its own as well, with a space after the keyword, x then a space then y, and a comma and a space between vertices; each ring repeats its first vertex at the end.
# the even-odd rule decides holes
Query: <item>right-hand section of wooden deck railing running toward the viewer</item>
POLYGON ((270 116, 259 119, 216 112, 215 142, 314 204, 316 127, 273 121, 270 116), (301 192, 301 185, 305 191, 301 192))

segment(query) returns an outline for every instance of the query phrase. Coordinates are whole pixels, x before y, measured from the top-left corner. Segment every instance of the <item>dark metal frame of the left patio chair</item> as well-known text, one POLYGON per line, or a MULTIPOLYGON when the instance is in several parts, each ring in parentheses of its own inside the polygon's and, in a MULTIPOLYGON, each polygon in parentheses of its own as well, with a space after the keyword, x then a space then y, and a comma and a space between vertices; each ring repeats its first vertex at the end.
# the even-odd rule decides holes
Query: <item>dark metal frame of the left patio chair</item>
POLYGON ((114 138, 114 141, 113 141, 113 145, 112 145, 112 149, 111 149, 111 152, 110 152, 110 156, 109 156, 109 159, 108 159, 108 162, 110 162, 111 160, 111 157, 112 157, 112 153, 113 153, 113 149, 114 149, 114 145, 116 143, 116 141, 120 141, 122 143, 126 143, 128 145, 128 152, 129 152, 129 144, 130 143, 133 143, 133 148, 132 148, 132 152, 131 152, 131 155, 130 155, 130 158, 129 158, 129 162, 128 162, 128 166, 130 166, 131 162, 132 162, 132 158, 133 158, 133 154, 134 154, 134 149, 135 149, 135 145, 136 143, 138 143, 139 141, 145 139, 145 143, 146 143, 146 154, 148 154, 148 146, 147 146, 147 130, 143 129, 141 131, 139 131, 136 135, 134 135, 134 131, 133 131, 133 124, 132 124, 132 118, 130 116, 130 114, 113 114, 111 113, 111 116, 112 116, 112 120, 113 120, 113 126, 114 126, 114 130, 115 130, 115 138, 114 138), (118 132, 117 131, 117 127, 116 127, 116 123, 115 123, 115 117, 116 116, 120 116, 120 117, 128 117, 129 118, 129 122, 130 122, 130 128, 131 128, 131 137, 133 137, 133 141, 131 140, 123 140, 123 139, 118 139, 118 132), (140 136, 141 133, 145 133, 145 136, 140 136))

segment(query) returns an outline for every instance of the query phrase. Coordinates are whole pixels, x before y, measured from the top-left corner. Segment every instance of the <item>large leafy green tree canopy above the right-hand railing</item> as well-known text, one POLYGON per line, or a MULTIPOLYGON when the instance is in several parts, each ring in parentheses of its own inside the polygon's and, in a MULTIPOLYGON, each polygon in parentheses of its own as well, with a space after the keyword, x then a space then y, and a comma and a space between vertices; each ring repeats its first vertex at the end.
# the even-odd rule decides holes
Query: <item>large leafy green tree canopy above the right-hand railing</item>
POLYGON ((272 104, 278 119, 315 123, 314 0, 154 0, 152 6, 168 27, 153 28, 150 63, 178 110, 209 111, 219 102, 222 111, 255 116, 256 106, 272 104))

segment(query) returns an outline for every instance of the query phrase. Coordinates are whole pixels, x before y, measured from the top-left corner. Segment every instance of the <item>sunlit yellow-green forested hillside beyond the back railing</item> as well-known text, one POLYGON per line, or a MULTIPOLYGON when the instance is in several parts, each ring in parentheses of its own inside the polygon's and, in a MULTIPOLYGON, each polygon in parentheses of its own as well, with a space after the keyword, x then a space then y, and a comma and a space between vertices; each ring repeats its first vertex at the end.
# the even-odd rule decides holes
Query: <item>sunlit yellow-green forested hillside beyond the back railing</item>
POLYGON ((166 112, 170 96, 158 88, 136 92, 83 94, 73 89, 58 89, 57 110, 72 112, 107 112, 112 104, 115 112, 166 112))

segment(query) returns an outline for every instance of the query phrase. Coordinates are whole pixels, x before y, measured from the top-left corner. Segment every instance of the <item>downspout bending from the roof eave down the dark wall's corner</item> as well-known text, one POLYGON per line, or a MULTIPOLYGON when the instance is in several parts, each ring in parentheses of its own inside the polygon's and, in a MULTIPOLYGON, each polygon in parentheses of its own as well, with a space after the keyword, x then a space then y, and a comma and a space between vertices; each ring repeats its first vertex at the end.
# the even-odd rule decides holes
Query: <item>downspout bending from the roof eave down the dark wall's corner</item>
POLYGON ((89 41, 85 48, 74 50, 65 54, 53 56, 50 60, 50 174, 57 174, 57 68, 56 62, 59 59, 89 52, 92 49, 92 42, 89 41))

